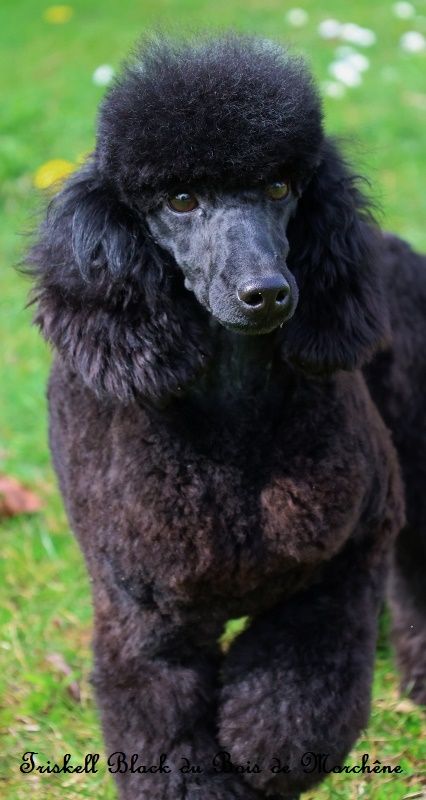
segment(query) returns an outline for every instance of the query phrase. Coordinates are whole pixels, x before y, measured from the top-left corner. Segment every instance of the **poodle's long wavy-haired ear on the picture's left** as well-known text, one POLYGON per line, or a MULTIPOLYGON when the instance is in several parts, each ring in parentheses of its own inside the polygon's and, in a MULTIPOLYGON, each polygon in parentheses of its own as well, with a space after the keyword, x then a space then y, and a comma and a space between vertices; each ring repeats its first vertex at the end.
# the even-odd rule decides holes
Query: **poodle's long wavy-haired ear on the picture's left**
POLYGON ((162 404, 205 365, 180 271, 92 164, 52 200, 28 264, 36 323, 98 395, 162 404))

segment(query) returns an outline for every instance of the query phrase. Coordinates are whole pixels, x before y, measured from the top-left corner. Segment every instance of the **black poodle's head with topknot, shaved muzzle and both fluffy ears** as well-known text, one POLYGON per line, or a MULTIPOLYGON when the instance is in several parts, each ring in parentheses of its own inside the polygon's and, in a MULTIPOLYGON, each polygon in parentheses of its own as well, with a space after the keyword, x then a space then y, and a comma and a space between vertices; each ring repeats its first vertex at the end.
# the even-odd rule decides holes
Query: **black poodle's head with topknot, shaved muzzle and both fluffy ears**
POLYGON ((36 320, 99 395, 162 403, 212 357, 209 318, 353 368, 383 338, 376 236, 299 59, 228 36, 155 42, 29 255, 36 320))

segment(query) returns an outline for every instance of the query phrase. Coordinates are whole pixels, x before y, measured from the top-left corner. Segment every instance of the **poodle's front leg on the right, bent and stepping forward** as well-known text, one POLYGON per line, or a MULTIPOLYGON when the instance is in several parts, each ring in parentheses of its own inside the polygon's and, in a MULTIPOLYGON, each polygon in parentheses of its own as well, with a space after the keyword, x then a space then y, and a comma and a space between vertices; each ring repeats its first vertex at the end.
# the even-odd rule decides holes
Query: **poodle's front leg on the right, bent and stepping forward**
POLYGON ((224 666, 218 738, 245 779, 292 798, 344 764, 366 726, 383 553, 346 548, 311 588, 262 614, 224 666))

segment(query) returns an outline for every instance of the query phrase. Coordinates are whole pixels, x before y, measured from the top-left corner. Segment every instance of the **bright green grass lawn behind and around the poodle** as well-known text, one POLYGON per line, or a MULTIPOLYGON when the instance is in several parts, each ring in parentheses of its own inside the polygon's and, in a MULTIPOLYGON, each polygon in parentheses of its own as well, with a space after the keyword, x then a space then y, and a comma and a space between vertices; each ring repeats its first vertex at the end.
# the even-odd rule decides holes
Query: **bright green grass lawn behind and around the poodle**
MULTIPOLYGON (((1 387, 0 471, 15 475, 45 502, 42 513, 2 526, 4 575, 0 579, 2 634, 2 796, 112 798, 105 773, 38 779, 19 771, 21 754, 76 759, 102 749, 89 684, 91 610, 82 558, 71 538, 49 465, 45 381, 49 353, 24 310, 27 286, 12 271, 22 255, 21 233, 33 225, 40 197, 34 171, 52 158, 77 160, 93 146, 96 106, 103 90, 91 81, 103 63, 117 66, 139 33, 153 27, 197 30, 232 26, 289 41, 305 53, 320 82, 327 79, 335 45, 321 40, 318 23, 327 17, 372 28, 377 44, 361 87, 342 100, 326 99, 327 127, 345 136, 361 171, 372 179, 381 220, 418 247, 426 246, 424 154, 426 94, 424 54, 403 53, 401 34, 426 33, 426 4, 415 3, 419 19, 397 20, 390 2, 300 0, 308 24, 291 28, 282 0, 78 0, 64 25, 44 21, 44 3, 3 0, 0 8, 0 186, 1 186, 1 387), (72 674, 58 674, 48 656, 61 653, 72 674), (69 684, 78 680, 81 701, 69 684)), ((336 632, 336 635, 338 633, 336 632)), ((365 738, 349 761, 363 752, 383 763, 400 763, 402 776, 335 776, 316 800, 400 800, 426 797, 426 723, 397 692, 397 675, 386 632, 377 658, 374 703, 365 738)))

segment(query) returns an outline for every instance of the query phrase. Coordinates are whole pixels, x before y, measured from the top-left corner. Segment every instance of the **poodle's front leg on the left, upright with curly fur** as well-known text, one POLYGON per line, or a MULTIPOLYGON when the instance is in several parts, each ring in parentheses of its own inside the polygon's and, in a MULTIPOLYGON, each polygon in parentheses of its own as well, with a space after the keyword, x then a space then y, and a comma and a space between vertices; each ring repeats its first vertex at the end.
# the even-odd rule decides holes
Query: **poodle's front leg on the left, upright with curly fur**
POLYGON ((120 800, 259 797, 214 768, 218 625, 143 608, 105 581, 94 600, 93 682, 120 800))

